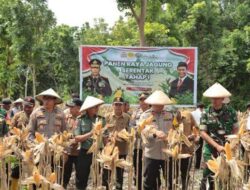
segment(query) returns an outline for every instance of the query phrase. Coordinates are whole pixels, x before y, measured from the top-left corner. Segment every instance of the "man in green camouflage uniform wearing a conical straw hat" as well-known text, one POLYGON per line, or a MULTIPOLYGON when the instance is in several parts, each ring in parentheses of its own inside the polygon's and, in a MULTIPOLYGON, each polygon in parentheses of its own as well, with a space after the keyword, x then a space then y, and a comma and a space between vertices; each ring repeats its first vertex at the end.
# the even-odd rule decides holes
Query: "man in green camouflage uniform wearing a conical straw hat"
MULTIPOLYGON (((201 137, 206 141, 203 151, 204 161, 217 157, 224 151, 225 136, 238 131, 237 115, 231 106, 223 104, 225 98, 231 96, 221 84, 215 83, 204 93, 204 97, 211 99, 209 106, 202 115, 200 122, 201 137)), ((201 190, 206 190, 207 180, 209 189, 214 189, 212 172, 206 167, 203 170, 201 190)))

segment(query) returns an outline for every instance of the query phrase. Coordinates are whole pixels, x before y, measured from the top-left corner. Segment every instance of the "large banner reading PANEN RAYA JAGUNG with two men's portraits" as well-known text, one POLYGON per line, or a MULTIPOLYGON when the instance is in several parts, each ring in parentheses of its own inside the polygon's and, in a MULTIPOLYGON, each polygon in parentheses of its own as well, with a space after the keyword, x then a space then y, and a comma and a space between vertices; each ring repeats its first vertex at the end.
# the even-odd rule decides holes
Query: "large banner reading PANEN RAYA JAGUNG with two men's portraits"
POLYGON ((178 105, 197 98, 197 48, 80 46, 80 94, 138 103, 141 92, 164 91, 178 105), (89 62, 97 59, 100 68, 89 62))

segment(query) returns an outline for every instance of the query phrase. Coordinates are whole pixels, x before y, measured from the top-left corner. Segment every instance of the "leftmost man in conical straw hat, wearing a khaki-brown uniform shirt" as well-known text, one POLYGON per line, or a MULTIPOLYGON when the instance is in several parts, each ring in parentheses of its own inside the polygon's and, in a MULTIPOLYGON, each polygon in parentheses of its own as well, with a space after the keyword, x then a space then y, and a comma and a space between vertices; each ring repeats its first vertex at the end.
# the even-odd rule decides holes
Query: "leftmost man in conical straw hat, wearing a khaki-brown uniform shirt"
POLYGON ((65 115, 56 106, 62 103, 61 97, 50 88, 37 95, 36 100, 42 102, 43 106, 36 109, 30 116, 30 138, 35 138, 35 132, 50 138, 55 133, 66 130, 65 115))

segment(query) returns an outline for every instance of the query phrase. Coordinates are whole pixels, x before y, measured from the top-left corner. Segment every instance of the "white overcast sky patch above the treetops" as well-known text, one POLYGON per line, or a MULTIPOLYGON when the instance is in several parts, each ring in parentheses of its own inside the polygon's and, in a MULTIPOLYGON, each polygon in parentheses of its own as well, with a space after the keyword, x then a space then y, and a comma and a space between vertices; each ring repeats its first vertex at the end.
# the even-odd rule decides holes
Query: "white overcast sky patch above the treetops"
POLYGON ((94 23, 94 18, 104 18, 113 26, 124 13, 117 9, 116 0, 48 0, 48 7, 57 19, 58 24, 82 26, 83 23, 94 23))

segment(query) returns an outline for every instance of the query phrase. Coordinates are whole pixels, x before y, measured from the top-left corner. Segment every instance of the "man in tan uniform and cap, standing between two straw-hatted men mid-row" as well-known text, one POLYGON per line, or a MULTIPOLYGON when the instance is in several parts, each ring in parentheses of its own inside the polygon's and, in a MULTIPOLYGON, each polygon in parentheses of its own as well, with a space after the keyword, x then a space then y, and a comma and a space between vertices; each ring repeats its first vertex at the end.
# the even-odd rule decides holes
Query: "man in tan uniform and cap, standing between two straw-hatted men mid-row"
MULTIPOLYGON (((120 132, 123 129, 128 130, 130 116, 122 111, 124 100, 121 97, 116 97, 113 100, 113 112, 106 117, 107 128, 109 137, 112 137, 116 132, 120 132)), ((128 154, 128 143, 123 141, 122 139, 116 139, 115 146, 118 147, 119 150, 119 159, 126 159, 128 154)), ((123 173, 124 169, 116 168, 116 189, 122 190, 123 186, 123 173)), ((108 188, 108 177, 109 172, 104 170, 103 183, 108 188)))

